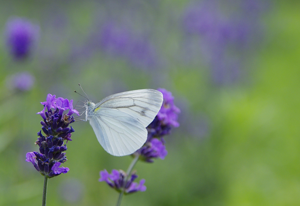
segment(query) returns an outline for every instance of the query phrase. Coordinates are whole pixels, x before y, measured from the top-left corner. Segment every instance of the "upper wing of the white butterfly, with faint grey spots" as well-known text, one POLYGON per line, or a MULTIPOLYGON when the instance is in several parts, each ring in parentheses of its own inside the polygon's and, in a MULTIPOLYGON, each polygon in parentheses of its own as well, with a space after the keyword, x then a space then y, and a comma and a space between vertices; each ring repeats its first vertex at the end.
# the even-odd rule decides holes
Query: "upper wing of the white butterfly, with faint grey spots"
POLYGON ((151 123, 162 104, 162 93, 154 89, 138 89, 107 96, 95 107, 114 108, 130 114, 146 127, 151 123))

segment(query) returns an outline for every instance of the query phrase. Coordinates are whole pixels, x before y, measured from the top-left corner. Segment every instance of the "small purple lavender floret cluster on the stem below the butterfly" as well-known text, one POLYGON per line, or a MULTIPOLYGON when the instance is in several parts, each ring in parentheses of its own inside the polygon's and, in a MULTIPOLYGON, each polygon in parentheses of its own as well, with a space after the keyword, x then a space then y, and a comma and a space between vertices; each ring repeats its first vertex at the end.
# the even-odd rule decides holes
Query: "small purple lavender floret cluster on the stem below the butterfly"
POLYGON ((109 174, 106 169, 100 171, 99 181, 105 181, 110 187, 114 188, 116 191, 121 192, 124 190, 125 194, 133 193, 136 191, 145 191, 146 186, 145 179, 141 179, 139 183, 133 182, 137 178, 137 175, 133 172, 130 178, 127 179, 127 174, 123 170, 112 169, 109 174))

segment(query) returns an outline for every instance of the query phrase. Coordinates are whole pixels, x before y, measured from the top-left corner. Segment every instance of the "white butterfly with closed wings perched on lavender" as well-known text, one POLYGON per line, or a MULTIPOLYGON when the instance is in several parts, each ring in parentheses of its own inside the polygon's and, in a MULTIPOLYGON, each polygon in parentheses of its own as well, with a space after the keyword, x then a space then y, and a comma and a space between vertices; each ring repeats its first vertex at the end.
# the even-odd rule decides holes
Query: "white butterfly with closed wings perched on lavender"
POLYGON ((114 156, 128 155, 147 139, 146 126, 162 104, 162 93, 139 89, 112 94, 98 103, 84 103, 89 120, 101 146, 114 156))

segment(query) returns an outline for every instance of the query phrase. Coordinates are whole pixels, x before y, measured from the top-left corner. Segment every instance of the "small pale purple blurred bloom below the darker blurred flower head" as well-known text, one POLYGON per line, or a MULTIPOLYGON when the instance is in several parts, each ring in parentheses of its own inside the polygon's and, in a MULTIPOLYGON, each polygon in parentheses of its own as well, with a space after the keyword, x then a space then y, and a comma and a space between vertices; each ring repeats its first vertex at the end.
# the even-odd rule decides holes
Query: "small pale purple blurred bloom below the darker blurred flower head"
POLYGON ((7 86, 11 89, 26 91, 32 88, 34 80, 34 76, 32 76, 29 72, 19 72, 15 73, 8 79, 7 86))

